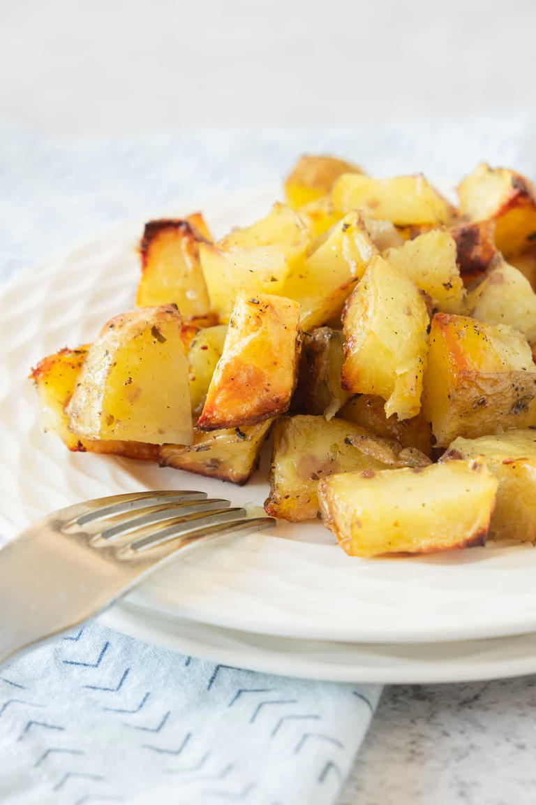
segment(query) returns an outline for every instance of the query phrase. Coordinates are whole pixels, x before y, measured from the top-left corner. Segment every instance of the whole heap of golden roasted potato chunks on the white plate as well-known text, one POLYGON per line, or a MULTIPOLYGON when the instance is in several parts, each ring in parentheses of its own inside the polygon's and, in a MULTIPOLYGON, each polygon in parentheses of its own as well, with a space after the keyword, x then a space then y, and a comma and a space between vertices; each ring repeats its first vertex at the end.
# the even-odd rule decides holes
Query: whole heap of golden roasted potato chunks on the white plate
POLYGON ((301 158, 285 202, 214 241, 149 221, 137 309, 32 370, 70 450, 243 484, 350 555, 536 540, 536 190, 301 158))

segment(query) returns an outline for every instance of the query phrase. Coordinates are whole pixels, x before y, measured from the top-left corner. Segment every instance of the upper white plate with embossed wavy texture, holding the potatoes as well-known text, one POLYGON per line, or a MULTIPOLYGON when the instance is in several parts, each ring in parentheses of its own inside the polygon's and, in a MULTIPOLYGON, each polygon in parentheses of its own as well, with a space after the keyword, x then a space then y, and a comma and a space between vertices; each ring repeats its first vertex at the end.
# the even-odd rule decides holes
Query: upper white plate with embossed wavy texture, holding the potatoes
MULTIPOLYGON (((207 204, 216 233, 251 221, 274 191, 207 204)), ((133 306, 141 221, 18 275, 2 288, 0 510, 2 533, 87 497, 141 488, 205 489, 262 504, 264 474, 243 488, 89 454, 42 432, 27 372, 63 345, 91 340, 133 306)), ((319 523, 226 538, 178 559, 129 595, 146 613, 288 638, 433 642, 536 630, 536 551, 475 548, 414 559, 349 559, 319 523)))

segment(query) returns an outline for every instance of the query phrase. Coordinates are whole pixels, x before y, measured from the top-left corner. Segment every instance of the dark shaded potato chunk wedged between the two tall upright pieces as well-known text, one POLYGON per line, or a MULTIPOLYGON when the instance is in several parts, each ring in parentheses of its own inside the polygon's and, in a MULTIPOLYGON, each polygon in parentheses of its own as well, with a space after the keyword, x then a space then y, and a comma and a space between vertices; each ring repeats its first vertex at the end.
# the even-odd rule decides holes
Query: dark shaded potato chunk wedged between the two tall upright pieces
POLYGON ((330 327, 317 327, 304 333, 300 373, 294 403, 306 414, 322 414, 333 419, 350 392, 341 386, 344 334, 330 327))

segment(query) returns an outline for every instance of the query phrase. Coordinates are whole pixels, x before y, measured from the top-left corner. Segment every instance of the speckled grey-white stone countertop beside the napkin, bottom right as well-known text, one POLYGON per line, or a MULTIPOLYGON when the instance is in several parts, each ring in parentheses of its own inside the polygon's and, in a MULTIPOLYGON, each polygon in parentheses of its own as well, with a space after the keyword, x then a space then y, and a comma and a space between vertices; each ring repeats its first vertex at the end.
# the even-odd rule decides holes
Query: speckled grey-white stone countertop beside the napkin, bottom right
POLYGON ((386 687, 338 805, 534 805, 536 677, 386 687))

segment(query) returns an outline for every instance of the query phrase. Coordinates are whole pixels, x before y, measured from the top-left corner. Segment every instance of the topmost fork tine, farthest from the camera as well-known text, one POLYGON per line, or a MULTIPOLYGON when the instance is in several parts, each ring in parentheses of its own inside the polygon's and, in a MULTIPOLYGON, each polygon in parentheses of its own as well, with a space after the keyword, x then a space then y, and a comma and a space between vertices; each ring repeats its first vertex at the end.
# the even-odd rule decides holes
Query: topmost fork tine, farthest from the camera
POLYGON ((190 489, 158 489, 147 492, 131 492, 124 495, 110 495, 109 497, 96 497, 94 500, 78 503, 75 506, 68 506, 66 509, 59 510, 55 514, 60 522, 62 529, 71 525, 82 526, 92 520, 113 517, 133 509, 145 509, 146 506, 154 506, 159 503, 172 503, 182 501, 204 500, 206 492, 196 492, 190 489))

